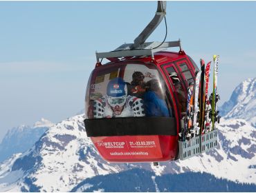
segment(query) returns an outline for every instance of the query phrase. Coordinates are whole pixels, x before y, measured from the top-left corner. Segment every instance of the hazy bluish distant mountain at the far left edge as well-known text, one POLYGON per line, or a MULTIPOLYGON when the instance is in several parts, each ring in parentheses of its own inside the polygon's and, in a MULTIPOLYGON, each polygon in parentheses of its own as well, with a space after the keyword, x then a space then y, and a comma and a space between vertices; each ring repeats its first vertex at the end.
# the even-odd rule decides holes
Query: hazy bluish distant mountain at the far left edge
POLYGON ((17 128, 8 130, 0 143, 0 162, 6 160, 12 154, 24 152, 31 148, 52 125, 51 121, 42 118, 32 127, 20 125, 17 128))

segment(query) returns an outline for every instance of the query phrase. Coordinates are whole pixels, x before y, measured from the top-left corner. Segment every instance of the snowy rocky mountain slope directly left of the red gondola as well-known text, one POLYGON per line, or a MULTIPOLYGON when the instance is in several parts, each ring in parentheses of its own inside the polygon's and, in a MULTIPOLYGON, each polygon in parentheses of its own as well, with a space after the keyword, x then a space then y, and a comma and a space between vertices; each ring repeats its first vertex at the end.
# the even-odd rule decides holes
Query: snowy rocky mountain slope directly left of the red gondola
POLYGON ((6 185, 5 181, 17 171, 24 175, 15 182, 15 190, 68 192, 86 178, 128 168, 124 164, 121 169, 100 158, 86 138, 83 119, 82 115, 73 116, 46 131, 31 150, 13 163, 9 173, 0 175, 0 192, 12 191, 13 184, 6 185))

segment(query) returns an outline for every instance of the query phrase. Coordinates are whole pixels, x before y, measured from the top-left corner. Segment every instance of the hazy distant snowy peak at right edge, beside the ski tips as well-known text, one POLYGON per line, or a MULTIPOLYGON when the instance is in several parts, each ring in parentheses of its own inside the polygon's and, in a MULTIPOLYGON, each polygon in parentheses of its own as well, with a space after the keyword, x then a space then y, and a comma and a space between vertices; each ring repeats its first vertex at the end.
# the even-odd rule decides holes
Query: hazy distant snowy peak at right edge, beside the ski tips
POLYGON ((220 114, 225 119, 246 119, 256 127, 256 78, 240 83, 221 106, 220 114))

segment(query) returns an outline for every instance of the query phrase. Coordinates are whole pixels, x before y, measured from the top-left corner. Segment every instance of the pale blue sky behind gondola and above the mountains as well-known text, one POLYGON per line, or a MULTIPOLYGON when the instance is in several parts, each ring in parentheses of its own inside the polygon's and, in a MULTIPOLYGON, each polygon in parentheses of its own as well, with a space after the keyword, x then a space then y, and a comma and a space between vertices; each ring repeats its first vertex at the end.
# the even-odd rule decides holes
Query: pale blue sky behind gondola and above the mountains
MULTIPOLYGON (((196 63, 220 55, 219 93, 256 77, 255 1, 168 1, 167 41, 181 38, 196 63)), ((42 117, 62 121, 84 108, 95 50, 132 43, 156 1, 0 1, 0 141, 42 117)), ((162 41, 164 23, 148 41, 162 41)))

